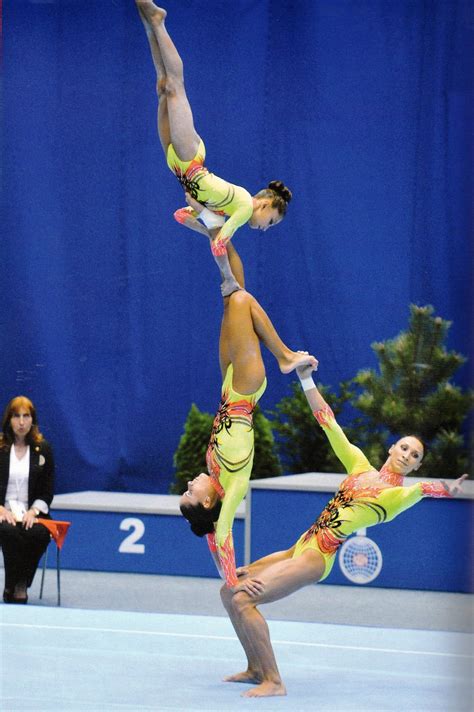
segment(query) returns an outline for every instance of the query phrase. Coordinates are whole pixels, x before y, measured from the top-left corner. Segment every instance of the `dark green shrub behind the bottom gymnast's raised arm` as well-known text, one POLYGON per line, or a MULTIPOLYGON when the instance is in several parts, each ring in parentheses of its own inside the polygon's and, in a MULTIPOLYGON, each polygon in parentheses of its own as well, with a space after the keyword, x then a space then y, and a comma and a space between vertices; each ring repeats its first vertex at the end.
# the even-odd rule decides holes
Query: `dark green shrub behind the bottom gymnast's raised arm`
MULTIPOLYGON (((341 384, 339 396, 327 386, 318 384, 318 388, 337 416, 349 397, 346 384, 341 384)), ((291 390, 292 394, 282 398, 275 410, 270 411, 273 416, 271 425, 277 435, 285 470, 291 473, 343 472, 341 463, 308 407, 299 383, 293 382, 291 390)))

